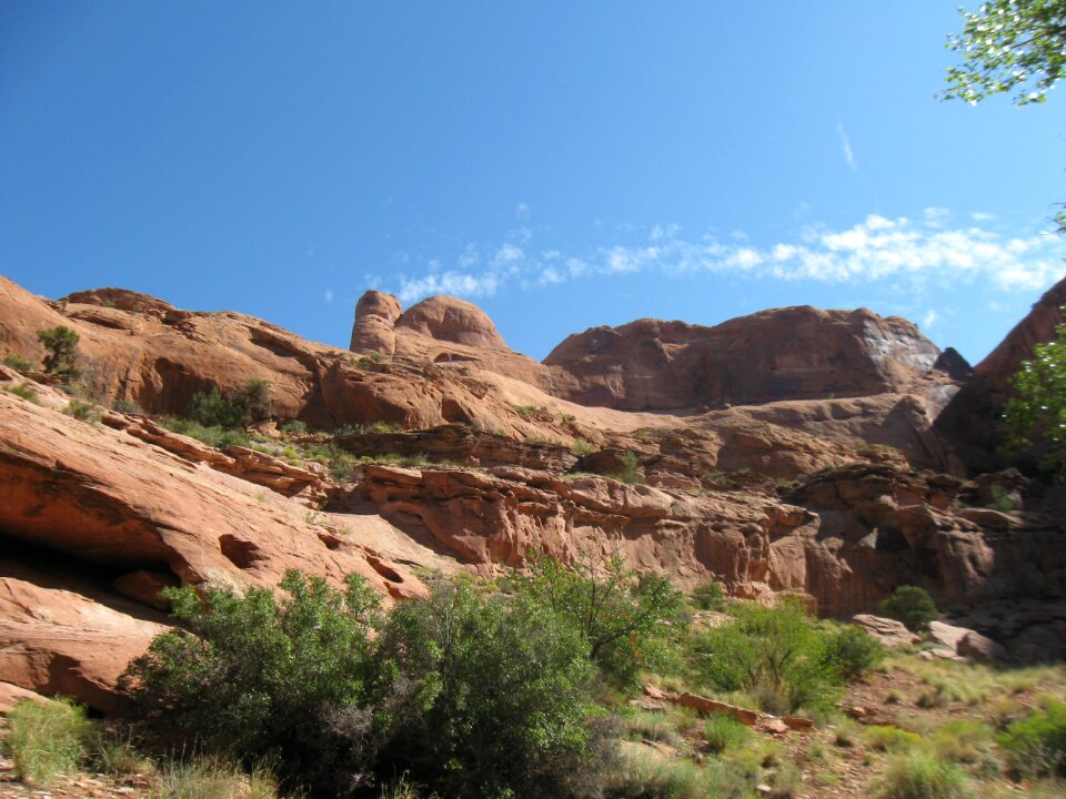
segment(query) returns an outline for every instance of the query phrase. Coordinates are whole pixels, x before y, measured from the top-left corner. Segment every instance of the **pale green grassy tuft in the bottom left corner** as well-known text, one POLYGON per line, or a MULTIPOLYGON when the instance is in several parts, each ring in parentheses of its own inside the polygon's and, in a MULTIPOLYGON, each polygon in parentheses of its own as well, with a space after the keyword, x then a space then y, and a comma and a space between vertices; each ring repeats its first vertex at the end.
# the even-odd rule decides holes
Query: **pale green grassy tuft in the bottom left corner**
POLYGON ((20 701, 8 715, 7 746, 14 772, 29 785, 47 786, 74 771, 86 758, 92 722, 86 711, 67 701, 20 701))

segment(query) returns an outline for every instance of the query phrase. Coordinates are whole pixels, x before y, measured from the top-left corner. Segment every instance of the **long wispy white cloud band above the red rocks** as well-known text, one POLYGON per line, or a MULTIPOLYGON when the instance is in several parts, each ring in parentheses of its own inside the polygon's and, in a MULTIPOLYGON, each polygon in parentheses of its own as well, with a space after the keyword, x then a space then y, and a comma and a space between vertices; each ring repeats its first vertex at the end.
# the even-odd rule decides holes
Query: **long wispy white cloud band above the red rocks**
MULTIPOLYGON (((952 213, 939 208, 925 209, 916 220, 871 214, 851 227, 807 225, 791 240, 766 244, 734 234, 725 241, 681 236, 676 225, 654 225, 643 243, 580 254, 509 240, 496 246, 467 245, 447 269, 430 262, 423 274, 400 276, 396 293, 404 302, 436 293, 484 297, 509 282, 532 289, 647 272, 837 284, 884 281, 895 291, 914 293, 967 284, 1032 292, 1064 272, 1066 242, 1058 236, 1008 236, 978 224, 952 225, 951 220, 952 213)), ((935 312, 928 320, 926 326, 936 322, 935 312)))

